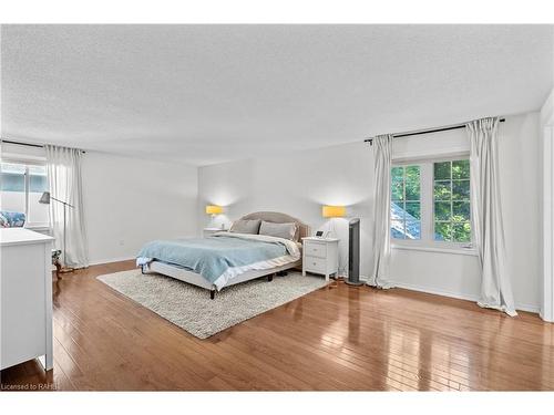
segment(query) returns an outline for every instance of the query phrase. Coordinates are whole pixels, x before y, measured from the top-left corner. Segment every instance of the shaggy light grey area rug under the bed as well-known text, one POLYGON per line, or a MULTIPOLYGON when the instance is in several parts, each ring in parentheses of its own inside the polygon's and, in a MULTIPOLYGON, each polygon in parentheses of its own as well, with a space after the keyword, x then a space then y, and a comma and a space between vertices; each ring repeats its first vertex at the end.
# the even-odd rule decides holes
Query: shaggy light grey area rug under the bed
POLYGON ((198 339, 207 339, 255 315, 325 287, 321 277, 289 272, 224 288, 214 300, 209 291, 157 273, 140 270, 96 277, 198 339))

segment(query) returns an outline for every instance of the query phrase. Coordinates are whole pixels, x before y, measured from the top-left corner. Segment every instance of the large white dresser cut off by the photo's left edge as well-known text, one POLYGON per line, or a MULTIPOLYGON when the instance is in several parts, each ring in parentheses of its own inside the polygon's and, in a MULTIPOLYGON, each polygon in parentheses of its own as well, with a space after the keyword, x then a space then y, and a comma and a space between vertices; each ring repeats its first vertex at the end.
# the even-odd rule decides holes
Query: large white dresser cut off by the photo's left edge
POLYGON ((52 369, 52 240, 0 228, 0 369, 35 357, 52 369))

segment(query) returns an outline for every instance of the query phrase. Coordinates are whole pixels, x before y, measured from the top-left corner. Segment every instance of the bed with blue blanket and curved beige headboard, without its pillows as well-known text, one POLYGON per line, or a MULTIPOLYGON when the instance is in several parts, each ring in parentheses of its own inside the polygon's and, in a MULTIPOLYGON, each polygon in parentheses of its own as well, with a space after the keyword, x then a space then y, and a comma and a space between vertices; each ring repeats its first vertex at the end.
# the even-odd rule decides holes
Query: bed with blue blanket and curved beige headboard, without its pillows
POLYGON ((294 222, 296 232, 291 240, 263 235, 216 232, 202 239, 152 241, 141 249, 137 266, 143 273, 157 272, 209 290, 212 300, 225 287, 261 277, 267 277, 270 282, 275 274, 301 266, 300 241, 309 236, 306 224, 275 211, 258 211, 239 220, 294 222))

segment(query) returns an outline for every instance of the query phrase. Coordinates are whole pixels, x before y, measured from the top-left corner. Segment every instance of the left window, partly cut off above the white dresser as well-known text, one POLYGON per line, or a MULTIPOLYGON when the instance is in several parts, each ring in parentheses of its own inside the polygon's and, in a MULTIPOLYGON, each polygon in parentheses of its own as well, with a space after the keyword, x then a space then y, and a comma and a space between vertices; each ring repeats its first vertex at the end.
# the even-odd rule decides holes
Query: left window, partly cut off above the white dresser
POLYGON ((25 226, 49 225, 49 205, 39 204, 48 190, 47 168, 19 163, 0 164, 0 209, 25 214, 25 226))

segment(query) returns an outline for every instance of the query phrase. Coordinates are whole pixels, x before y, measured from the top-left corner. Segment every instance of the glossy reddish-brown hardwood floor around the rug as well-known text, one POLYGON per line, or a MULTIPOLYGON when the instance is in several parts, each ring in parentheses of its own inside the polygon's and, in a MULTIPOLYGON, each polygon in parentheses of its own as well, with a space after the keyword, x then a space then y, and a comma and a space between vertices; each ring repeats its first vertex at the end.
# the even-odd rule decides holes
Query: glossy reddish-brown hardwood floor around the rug
POLYGON ((198 340, 95 279, 132 268, 55 281, 54 369, 4 370, 2 391, 554 390, 554 324, 535 314, 339 283, 198 340))

